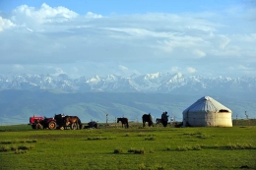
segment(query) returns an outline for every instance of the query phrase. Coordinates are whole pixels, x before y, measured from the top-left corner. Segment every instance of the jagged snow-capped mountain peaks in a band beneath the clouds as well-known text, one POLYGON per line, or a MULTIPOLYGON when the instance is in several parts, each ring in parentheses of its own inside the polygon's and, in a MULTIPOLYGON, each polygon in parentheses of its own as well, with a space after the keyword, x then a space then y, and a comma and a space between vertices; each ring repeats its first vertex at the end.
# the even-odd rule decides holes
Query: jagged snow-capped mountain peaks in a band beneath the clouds
POLYGON ((0 89, 62 89, 65 91, 160 92, 160 93, 256 93, 256 78, 205 78, 181 73, 156 73, 121 77, 108 75, 71 79, 67 75, 0 76, 0 89))

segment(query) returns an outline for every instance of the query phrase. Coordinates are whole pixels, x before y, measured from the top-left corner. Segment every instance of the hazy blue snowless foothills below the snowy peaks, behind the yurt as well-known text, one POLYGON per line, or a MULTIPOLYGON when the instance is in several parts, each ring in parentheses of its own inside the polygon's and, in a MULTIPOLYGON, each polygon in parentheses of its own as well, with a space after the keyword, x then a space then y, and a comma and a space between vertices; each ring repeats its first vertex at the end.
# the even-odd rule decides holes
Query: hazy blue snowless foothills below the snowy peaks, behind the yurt
MULTIPOLYGON (((6 89, 0 91, 0 124, 29 123, 29 117, 53 117, 54 114, 77 115, 82 122, 114 122, 127 117, 141 122, 145 113, 153 118, 167 111, 170 117, 182 120, 182 111, 202 95, 142 92, 60 92, 59 90, 6 89)), ((256 99, 211 95, 232 110, 233 118, 256 117, 256 99)))

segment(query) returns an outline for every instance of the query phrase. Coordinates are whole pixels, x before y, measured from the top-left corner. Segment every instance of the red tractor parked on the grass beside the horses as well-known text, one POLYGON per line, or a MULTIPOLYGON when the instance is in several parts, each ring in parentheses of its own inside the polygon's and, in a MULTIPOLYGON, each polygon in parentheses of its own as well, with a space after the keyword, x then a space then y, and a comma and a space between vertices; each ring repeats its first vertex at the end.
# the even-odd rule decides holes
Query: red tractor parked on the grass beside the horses
POLYGON ((57 127, 56 120, 54 118, 45 118, 42 116, 32 116, 30 117, 30 124, 32 129, 50 129, 54 130, 57 127))

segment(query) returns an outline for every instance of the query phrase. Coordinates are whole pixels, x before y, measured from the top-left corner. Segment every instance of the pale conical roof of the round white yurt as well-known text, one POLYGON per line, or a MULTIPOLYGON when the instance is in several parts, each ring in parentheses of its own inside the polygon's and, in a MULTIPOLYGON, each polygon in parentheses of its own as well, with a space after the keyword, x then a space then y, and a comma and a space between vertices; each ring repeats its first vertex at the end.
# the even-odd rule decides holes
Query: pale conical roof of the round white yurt
POLYGON ((198 99, 194 104, 186 108, 183 113, 186 112, 199 112, 199 111, 205 111, 205 112, 231 112, 230 109, 225 107, 220 102, 216 101, 214 98, 210 96, 204 96, 200 99, 198 99))

